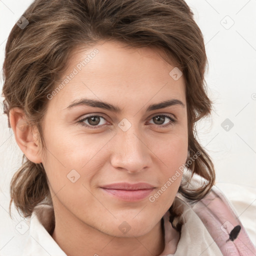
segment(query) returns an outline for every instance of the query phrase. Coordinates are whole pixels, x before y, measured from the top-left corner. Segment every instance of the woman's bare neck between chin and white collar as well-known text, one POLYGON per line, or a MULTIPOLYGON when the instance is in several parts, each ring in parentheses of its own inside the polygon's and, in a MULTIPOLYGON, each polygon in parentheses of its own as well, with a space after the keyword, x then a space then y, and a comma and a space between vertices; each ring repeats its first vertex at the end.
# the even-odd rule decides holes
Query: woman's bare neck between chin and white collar
POLYGON ((164 249, 161 220, 145 235, 116 237, 81 222, 71 213, 63 219, 59 212, 63 211, 54 212, 55 228, 52 238, 68 256, 156 256, 164 249))

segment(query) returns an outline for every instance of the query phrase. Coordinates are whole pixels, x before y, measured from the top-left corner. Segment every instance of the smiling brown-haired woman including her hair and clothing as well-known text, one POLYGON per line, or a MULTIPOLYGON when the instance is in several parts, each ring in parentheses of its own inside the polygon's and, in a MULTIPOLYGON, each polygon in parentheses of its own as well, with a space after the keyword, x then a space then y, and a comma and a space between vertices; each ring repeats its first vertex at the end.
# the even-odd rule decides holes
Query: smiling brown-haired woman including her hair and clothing
POLYGON ((195 137, 206 63, 183 0, 32 2, 3 64, 22 255, 256 253, 195 137))

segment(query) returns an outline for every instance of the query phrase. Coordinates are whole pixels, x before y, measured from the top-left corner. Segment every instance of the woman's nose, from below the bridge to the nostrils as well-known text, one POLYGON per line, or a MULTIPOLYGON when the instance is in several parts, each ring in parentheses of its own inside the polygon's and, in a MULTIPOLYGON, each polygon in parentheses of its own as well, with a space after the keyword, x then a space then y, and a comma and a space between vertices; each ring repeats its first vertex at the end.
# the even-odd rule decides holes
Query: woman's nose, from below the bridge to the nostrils
POLYGON ((152 151, 144 140, 144 136, 133 126, 126 131, 118 130, 114 139, 111 165, 128 173, 146 170, 151 165, 152 151))

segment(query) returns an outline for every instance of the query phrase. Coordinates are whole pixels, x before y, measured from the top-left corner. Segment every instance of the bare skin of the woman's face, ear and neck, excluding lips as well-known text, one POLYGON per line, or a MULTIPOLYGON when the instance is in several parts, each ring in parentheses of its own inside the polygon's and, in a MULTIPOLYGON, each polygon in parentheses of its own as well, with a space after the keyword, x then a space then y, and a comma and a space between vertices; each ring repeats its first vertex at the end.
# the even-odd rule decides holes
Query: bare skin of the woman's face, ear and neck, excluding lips
MULTIPOLYGON (((63 77, 98 49, 49 100, 43 120, 47 148, 43 155, 35 139, 36 129, 17 128, 25 118, 22 110, 13 108, 10 112, 17 144, 29 160, 42 162, 45 168, 55 214, 52 237, 69 256, 151 256, 159 255, 164 248, 160 220, 173 202, 181 175, 154 202, 148 197, 133 202, 120 200, 100 186, 147 182, 155 187, 150 193, 153 195, 185 162, 185 80, 183 75, 178 80, 169 75, 174 65, 165 62, 158 50, 123 46, 106 41, 70 54, 63 77), (84 105, 67 108, 82 97, 106 101, 121 112, 84 105), (174 98, 184 107, 176 104, 145 110, 150 104, 174 98), (104 117, 97 128, 90 128, 96 123, 93 119, 83 121, 90 127, 77 122, 91 114, 104 117), (176 122, 166 117, 157 121, 158 114, 176 117, 176 122), (131 124, 126 131, 118 126, 123 118, 131 124), (167 123, 171 124, 163 127, 167 123), (72 169, 80 175, 75 182, 67 177, 72 169), (119 229, 121 223, 130 228, 126 233, 119 229)), ((173 229, 171 235, 174 253, 179 234, 173 229)))

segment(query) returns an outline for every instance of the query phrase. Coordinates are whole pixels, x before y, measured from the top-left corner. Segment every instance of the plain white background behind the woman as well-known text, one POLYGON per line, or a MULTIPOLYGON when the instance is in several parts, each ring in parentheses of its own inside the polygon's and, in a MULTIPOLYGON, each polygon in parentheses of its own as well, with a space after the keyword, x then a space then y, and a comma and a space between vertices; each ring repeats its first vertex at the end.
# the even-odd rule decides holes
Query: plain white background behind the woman
MULTIPOLYGON (((256 226, 249 218, 256 216, 256 0, 186 2, 204 36, 209 63, 206 82, 214 102, 211 117, 197 125, 199 141, 213 159, 217 185, 232 200, 255 243, 256 226), (226 118, 234 124, 228 131, 221 126, 226 118)), ((30 3, 0 0, 1 67, 7 36, 30 3)), ((11 255, 11 247, 22 247, 28 232, 20 235, 15 225, 22 218, 15 213, 11 220, 7 213, 9 182, 22 153, 7 127, 2 104, 0 108, 0 254, 11 255)))

